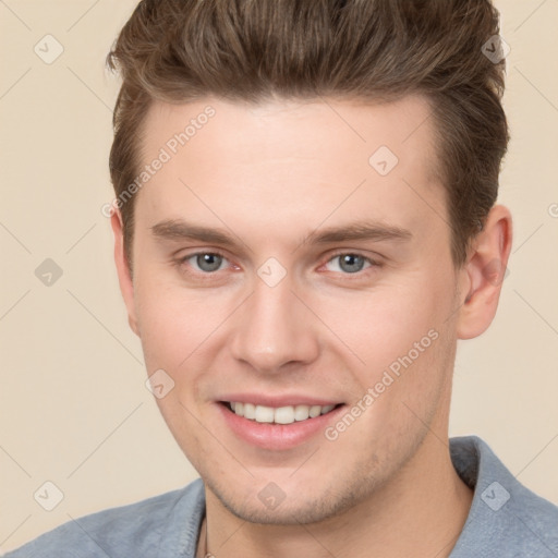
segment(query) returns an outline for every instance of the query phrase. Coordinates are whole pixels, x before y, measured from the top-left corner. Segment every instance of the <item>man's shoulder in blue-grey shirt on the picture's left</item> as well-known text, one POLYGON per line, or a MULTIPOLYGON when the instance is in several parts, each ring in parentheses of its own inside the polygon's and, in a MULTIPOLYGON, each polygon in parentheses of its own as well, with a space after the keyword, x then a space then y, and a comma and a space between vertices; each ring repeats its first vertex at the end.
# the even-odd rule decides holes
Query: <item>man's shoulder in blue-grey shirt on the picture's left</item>
POLYGON ((170 544, 163 535, 177 514, 187 527, 189 521, 197 525, 203 509, 203 483, 197 478, 178 490, 73 519, 4 558, 155 557, 161 541, 170 544))

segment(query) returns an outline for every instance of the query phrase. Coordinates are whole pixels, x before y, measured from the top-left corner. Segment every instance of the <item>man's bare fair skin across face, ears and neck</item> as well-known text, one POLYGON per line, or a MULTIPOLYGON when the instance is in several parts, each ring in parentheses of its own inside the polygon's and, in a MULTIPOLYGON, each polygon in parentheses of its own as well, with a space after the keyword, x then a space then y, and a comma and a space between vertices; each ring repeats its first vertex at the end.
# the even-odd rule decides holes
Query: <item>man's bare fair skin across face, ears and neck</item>
MULTIPOLYGON (((456 347, 495 315, 509 211, 493 208, 456 267, 433 119, 418 96, 384 105, 156 104, 145 162, 207 105, 215 117, 136 196, 133 280, 121 216, 111 217, 120 287, 147 372, 162 368, 174 381, 157 403, 206 485, 207 551, 449 556, 472 499, 448 450, 456 347), (385 177, 368 163, 381 145, 399 158, 385 177), (232 233, 236 244, 154 234, 169 219, 232 233), (301 243, 360 220, 409 238, 301 243), (215 251, 225 256, 217 271, 186 258, 215 251), (339 252, 371 259, 348 272, 339 252), (274 288, 257 275, 269 257, 287 271, 274 288), (320 433, 288 450, 255 447, 217 408, 227 392, 257 391, 349 409, 430 330, 437 339, 335 441, 320 433), (272 510, 258 498, 270 482, 286 495, 272 510)), ((201 539, 198 556, 205 551, 201 539)))

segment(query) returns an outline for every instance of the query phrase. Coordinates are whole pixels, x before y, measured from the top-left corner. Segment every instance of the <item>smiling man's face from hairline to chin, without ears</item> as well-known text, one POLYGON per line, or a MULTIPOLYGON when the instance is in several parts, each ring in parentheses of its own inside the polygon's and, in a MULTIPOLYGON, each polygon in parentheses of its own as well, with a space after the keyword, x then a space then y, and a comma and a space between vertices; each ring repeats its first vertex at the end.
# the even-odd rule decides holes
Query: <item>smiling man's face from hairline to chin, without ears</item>
POLYGON ((135 202, 131 322, 174 383, 172 434, 243 519, 331 517, 447 427, 460 274, 428 114, 418 97, 148 113, 143 163, 170 160, 135 202))

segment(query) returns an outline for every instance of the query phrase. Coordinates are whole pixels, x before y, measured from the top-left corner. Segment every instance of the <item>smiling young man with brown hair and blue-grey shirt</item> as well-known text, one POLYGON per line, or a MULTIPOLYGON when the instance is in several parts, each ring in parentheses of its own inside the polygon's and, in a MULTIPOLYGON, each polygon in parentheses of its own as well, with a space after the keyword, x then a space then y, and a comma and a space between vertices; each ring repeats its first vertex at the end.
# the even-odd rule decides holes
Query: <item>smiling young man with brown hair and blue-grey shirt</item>
POLYGON ((511 245, 497 35, 487 0, 141 2, 114 257, 201 478, 10 557, 558 556, 558 508, 448 439, 511 245))

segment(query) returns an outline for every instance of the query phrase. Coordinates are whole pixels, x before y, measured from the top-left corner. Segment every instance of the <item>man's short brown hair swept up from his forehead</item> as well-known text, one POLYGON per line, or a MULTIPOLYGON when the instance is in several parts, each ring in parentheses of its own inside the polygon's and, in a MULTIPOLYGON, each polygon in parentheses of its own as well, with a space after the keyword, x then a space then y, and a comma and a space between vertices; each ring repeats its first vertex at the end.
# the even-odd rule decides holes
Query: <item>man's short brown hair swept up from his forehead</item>
MULTIPOLYGON (((498 34, 489 0, 143 0, 107 59, 123 80, 110 153, 117 199, 137 175, 155 99, 422 94, 433 107, 459 265, 496 202, 509 140, 505 61, 483 54, 498 34)), ((130 266, 133 202, 121 205, 130 266)))

